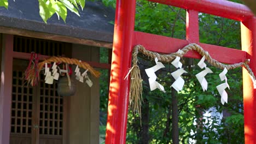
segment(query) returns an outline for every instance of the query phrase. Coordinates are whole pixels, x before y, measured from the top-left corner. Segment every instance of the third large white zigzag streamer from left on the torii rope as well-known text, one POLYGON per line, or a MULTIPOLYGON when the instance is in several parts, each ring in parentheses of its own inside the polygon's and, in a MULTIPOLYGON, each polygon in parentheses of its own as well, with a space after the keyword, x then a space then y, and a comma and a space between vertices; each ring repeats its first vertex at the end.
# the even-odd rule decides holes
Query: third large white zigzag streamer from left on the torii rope
POLYGON ((206 67, 206 64, 205 64, 204 61, 205 61, 205 56, 203 56, 201 58, 200 62, 197 64, 201 69, 205 68, 205 70, 203 70, 200 73, 196 74, 196 78, 200 82, 203 91, 206 91, 207 87, 208 87, 208 82, 206 81, 205 76, 208 73, 213 73, 213 72, 212 72, 212 70, 210 68, 206 67))

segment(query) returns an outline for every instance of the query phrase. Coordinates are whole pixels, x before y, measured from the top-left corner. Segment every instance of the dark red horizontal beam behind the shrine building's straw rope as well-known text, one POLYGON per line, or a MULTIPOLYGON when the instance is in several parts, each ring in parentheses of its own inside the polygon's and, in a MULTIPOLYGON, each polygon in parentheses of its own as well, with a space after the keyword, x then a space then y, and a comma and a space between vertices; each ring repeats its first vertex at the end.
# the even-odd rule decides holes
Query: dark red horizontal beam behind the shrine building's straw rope
MULTIPOLYGON (((19 58, 19 59, 30 59, 30 53, 25 52, 13 52, 13 58, 19 58)), ((45 59, 49 58, 50 56, 40 55, 39 61, 44 61, 45 59)), ((86 62, 86 61, 85 61, 86 62)), ((111 64, 108 63, 98 63, 98 62, 86 62, 91 65, 91 67, 95 68, 102 68, 102 69, 110 69, 111 64)))

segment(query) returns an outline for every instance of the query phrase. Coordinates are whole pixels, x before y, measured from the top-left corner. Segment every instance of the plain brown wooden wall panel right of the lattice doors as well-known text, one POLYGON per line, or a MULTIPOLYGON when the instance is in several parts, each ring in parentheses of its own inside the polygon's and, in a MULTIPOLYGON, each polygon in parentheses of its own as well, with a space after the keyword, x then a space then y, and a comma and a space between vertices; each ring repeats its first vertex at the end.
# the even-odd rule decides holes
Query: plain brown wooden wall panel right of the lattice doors
MULTIPOLYGON (((72 45, 72 57, 83 61, 98 61, 97 47, 72 45), (95 50, 96 49, 96 50, 95 50)), ((75 67, 74 67, 75 68, 75 67)), ((77 80, 77 91, 70 97, 69 143, 99 143, 99 101, 100 89, 98 79, 89 75, 94 85, 90 88, 86 83, 77 80)))

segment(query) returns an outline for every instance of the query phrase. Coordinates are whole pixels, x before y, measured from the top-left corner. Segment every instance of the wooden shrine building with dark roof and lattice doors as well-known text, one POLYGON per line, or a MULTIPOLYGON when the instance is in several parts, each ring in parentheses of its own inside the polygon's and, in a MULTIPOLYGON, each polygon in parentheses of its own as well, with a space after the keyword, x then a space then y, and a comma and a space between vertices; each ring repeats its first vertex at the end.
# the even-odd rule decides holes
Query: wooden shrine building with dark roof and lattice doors
POLYGON ((39 16, 38 1, 9 1, 0 7, 1 95, 0 143, 99 143, 100 88, 76 82, 72 97, 61 97, 56 83, 42 80, 27 87, 22 79, 30 53, 74 57, 92 67, 99 63, 99 47, 112 48, 114 9, 86 2, 80 17, 68 11, 66 23, 53 15, 48 23, 39 16))

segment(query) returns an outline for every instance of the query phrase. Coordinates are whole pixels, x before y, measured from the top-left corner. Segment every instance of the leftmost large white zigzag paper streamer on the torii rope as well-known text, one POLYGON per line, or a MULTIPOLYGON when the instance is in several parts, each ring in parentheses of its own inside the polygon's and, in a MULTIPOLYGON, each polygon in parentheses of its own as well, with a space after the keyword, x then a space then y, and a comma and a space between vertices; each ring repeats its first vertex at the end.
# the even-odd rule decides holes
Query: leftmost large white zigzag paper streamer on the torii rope
POLYGON ((154 91, 156 88, 158 88, 160 89, 160 91, 165 92, 165 88, 156 81, 157 76, 155 75, 155 71, 161 68, 165 68, 165 65, 162 64, 161 62, 158 62, 158 58, 155 58, 155 63, 156 65, 154 67, 145 69, 146 74, 149 77, 148 81, 149 81, 150 91, 154 91))

